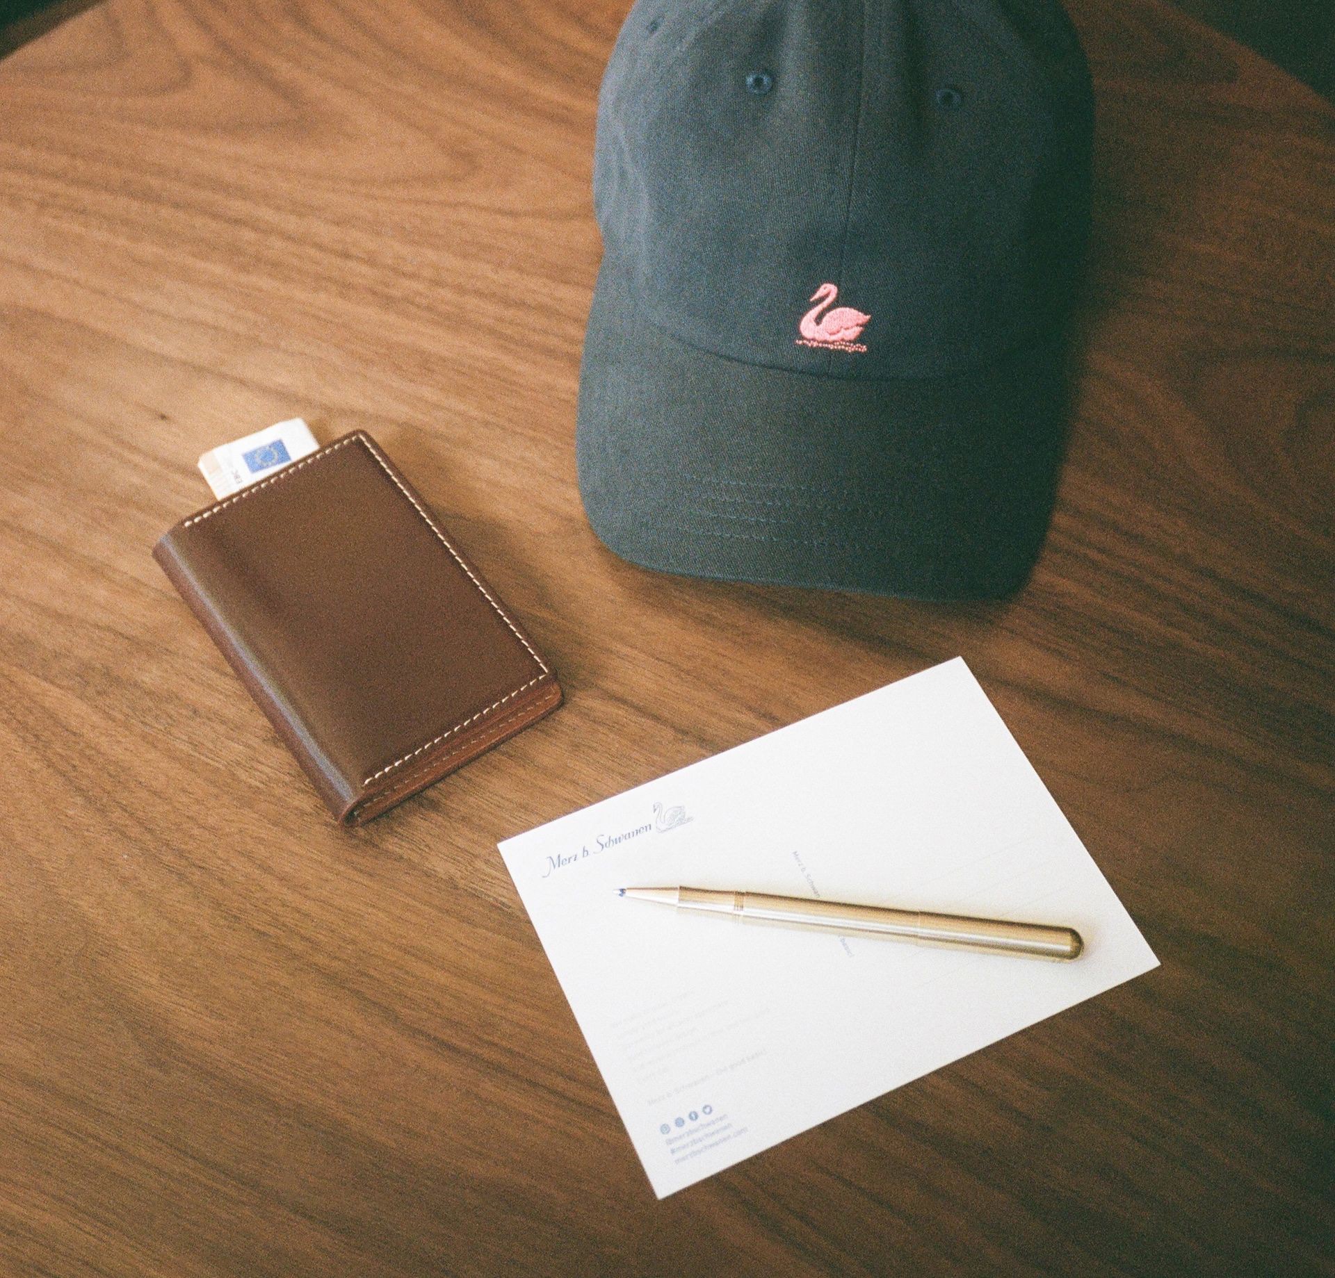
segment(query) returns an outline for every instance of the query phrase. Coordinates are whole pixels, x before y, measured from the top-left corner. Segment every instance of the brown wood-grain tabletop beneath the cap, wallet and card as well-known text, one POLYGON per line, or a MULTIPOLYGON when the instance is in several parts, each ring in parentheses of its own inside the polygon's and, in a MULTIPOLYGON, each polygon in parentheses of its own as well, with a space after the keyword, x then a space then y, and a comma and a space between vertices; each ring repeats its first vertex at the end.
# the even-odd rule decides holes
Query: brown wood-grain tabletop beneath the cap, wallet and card
POLYGON ((0 1271, 1322 1271, 1331 109, 1080 0, 1032 584, 692 582, 574 479, 623 5, 107 0, 0 63, 0 1271), (355 832, 148 554, 294 415, 380 440, 569 694, 355 832), (655 1202, 497 839, 957 654, 1161 969, 655 1202))

